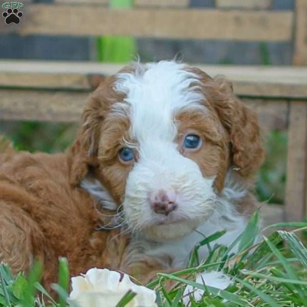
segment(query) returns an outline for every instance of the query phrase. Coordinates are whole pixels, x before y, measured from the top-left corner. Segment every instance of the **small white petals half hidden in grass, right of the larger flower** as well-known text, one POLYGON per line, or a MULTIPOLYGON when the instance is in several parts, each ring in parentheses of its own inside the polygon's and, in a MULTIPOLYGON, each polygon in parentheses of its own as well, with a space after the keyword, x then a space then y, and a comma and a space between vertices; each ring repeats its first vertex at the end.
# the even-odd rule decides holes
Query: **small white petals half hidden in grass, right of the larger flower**
MULTIPOLYGON (((204 272, 202 274, 196 275, 197 283, 204 284, 209 287, 214 287, 217 289, 224 290, 226 289, 232 282, 228 275, 222 272, 204 272)), ((183 293, 183 303, 185 306, 189 306, 190 298, 189 295, 193 296, 195 301, 200 301, 203 297, 204 290, 193 288, 192 286, 187 286, 183 293)))

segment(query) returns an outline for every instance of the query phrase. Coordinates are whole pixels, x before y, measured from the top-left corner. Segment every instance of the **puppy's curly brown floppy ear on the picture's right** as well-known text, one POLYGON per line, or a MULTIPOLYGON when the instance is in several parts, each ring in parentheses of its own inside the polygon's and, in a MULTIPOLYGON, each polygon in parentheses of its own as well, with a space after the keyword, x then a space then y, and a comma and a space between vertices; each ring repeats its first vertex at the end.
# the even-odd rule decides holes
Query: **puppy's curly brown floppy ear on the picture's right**
POLYGON ((229 132, 232 166, 242 176, 249 176, 265 158, 257 114, 233 94, 232 84, 225 78, 210 78, 204 85, 208 102, 229 132))

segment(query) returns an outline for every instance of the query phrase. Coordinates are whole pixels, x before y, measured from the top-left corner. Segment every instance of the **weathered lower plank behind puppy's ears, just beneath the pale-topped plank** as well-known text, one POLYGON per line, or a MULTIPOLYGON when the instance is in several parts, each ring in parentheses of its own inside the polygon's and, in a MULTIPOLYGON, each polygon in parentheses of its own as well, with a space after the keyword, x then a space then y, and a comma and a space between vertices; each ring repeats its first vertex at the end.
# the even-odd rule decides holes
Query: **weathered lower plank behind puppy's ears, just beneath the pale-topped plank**
MULTIPOLYGON (((0 89, 0 119, 77 121, 89 93, 0 89)), ((257 112, 261 128, 287 128, 286 101, 244 100, 257 112)))

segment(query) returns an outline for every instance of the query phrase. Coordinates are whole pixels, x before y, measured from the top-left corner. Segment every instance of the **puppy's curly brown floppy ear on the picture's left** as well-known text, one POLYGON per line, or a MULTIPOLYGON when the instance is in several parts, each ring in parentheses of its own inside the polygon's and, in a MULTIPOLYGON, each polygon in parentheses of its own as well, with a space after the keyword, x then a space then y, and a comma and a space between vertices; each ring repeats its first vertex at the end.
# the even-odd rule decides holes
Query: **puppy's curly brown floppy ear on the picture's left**
POLYGON ((101 126, 114 101, 115 77, 108 77, 91 94, 81 118, 81 127, 74 144, 68 149, 68 167, 70 183, 78 186, 90 167, 97 167, 97 153, 101 135, 101 126))

